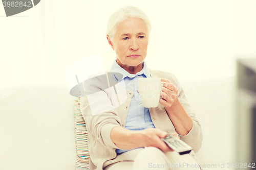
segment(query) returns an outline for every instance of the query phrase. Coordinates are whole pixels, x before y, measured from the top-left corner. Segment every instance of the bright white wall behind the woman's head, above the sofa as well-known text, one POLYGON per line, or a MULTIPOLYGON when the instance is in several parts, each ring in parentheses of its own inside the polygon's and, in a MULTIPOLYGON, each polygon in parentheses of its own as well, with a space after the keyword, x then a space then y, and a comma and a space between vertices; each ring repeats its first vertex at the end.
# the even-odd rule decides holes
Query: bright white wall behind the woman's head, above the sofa
POLYGON ((256 1, 42 0, 6 17, 0 5, 0 88, 66 84, 66 68, 101 53, 109 69, 115 53, 105 38, 117 9, 133 5, 152 22, 145 61, 179 80, 236 75, 237 57, 256 57, 256 1))

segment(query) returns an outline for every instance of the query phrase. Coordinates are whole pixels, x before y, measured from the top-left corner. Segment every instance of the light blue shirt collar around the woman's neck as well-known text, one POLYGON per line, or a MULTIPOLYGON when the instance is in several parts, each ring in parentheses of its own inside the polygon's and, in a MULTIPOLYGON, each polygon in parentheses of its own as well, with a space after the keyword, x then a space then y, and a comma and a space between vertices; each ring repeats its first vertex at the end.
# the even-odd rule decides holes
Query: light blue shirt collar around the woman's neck
POLYGON ((146 77, 151 77, 151 75, 150 75, 150 70, 147 68, 146 62, 143 61, 142 64, 143 64, 142 70, 140 70, 139 72, 137 72, 136 75, 130 74, 130 73, 127 72, 125 69, 123 69, 122 67, 120 67, 120 65, 117 64, 116 60, 113 62, 113 64, 112 64, 110 70, 111 70, 111 72, 114 73, 114 75, 115 75, 115 72, 118 72, 118 73, 120 73, 120 74, 123 75, 122 78, 118 78, 118 76, 115 76, 115 77, 118 79, 118 81, 121 81, 121 80, 124 79, 125 77, 134 78, 135 76, 142 75, 142 74, 144 74, 146 77))

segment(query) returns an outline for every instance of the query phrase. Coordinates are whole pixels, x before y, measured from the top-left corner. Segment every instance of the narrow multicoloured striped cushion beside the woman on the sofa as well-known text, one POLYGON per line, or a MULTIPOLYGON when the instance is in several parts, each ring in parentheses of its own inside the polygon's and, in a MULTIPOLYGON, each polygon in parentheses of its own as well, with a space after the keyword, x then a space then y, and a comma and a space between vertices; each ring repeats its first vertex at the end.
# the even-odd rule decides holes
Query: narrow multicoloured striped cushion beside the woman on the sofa
POLYGON ((76 170, 89 169, 88 133, 80 110, 80 96, 75 96, 76 170))

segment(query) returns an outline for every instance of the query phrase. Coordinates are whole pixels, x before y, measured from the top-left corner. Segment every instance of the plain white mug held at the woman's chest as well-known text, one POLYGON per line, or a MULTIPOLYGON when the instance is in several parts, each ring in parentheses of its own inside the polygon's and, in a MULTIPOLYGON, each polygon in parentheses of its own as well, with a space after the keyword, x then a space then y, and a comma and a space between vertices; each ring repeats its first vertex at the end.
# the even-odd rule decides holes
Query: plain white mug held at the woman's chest
POLYGON ((142 105, 146 108, 157 107, 160 100, 160 93, 163 88, 161 78, 140 78, 139 94, 142 105))

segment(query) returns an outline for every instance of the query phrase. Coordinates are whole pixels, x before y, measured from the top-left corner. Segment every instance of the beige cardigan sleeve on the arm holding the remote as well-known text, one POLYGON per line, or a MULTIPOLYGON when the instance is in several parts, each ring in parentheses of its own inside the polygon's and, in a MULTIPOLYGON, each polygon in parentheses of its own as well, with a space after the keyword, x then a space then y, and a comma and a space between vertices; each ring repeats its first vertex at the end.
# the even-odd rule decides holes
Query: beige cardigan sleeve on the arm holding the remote
POLYGON ((106 91, 81 96, 80 109, 90 139, 106 148, 119 149, 110 138, 110 133, 114 127, 121 126, 121 119, 106 91))

